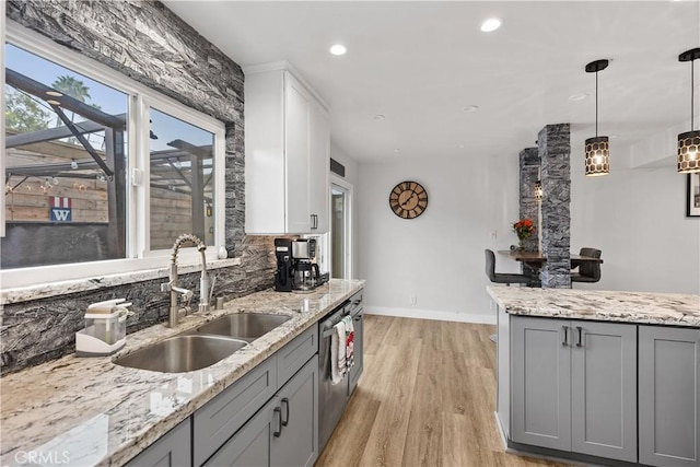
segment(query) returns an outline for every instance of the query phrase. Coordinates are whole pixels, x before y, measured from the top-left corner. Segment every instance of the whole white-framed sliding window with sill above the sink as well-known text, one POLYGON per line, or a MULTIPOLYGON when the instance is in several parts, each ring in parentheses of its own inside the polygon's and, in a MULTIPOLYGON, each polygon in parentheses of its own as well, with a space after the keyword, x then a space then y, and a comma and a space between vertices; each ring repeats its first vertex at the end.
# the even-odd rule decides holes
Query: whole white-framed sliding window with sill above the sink
POLYGON ((21 30, 4 47, 3 287, 161 267, 182 233, 215 258, 223 124, 21 30))

